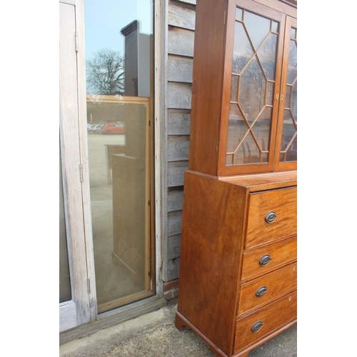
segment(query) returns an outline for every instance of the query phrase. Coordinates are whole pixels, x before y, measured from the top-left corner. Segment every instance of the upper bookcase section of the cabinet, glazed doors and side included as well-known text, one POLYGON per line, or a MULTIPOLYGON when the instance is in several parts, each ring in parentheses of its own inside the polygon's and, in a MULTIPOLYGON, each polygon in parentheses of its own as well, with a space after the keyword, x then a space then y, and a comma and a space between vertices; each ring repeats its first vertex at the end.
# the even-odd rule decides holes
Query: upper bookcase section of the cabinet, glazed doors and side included
POLYGON ((296 169, 296 46, 285 1, 197 1, 188 169, 296 169))

